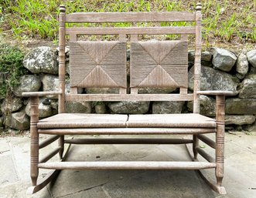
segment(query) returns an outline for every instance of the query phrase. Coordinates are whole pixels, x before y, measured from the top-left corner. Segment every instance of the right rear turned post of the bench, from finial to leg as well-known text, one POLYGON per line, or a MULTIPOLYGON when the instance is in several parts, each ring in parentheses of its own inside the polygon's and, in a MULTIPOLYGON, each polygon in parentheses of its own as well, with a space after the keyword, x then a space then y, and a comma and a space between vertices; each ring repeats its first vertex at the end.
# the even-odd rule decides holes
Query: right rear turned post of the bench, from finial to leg
MULTIPOLYGON (((201 42, 202 42, 202 15, 201 15, 202 5, 200 3, 196 4, 196 52, 195 52, 195 62, 194 62, 194 102, 193 102, 193 112, 200 113, 200 100, 197 91, 200 91, 200 77, 201 77, 201 42)), ((193 136, 193 154, 194 159, 197 159, 196 147, 198 147, 198 138, 196 135, 193 136)))

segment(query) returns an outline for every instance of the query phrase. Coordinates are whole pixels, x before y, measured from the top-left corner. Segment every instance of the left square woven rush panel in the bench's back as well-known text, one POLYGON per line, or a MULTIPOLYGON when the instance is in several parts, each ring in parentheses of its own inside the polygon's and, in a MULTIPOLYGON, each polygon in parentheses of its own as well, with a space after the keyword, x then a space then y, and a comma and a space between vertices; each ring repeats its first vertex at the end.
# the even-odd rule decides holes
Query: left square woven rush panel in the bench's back
POLYGON ((70 42, 71 87, 126 84, 126 42, 70 42))

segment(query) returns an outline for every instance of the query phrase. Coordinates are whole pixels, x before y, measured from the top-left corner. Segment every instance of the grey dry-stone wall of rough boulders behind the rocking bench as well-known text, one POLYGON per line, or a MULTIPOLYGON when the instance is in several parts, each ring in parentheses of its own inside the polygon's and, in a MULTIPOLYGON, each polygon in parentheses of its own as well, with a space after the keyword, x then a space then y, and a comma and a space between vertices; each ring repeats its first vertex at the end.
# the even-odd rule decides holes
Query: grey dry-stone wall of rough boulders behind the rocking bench
MULTIPOLYGON (((49 47, 33 49, 23 63, 30 74, 20 78, 14 97, 1 101, 0 127, 4 129, 29 129, 30 102, 22 97, 22 92, 58 90, 57 51, 49 47)), ((67 74, 69 73, 69 49, 67 74)), ((189 90, 193 90, 193 60, 195 53, 189 52, 189 90)), ((129 61, 129 51, 128 51, 129 61)), ((235 55, 225 49, 212 48, 202 52, 201 90, 230 90, 237 96, 227 97, 227 129, 255 130, 256 116, 256 50, 243 50, 235 55)), ((139 89, 139 92, 176 92, 175 89, 139 89)), ((69 82, 67 75, 67 92, 69 82)), ((80 89, 80 93, 117 92, 116 89, 80 89)), ((39 101, 40 119, 57 113, 57 99, 41 98, 39 101)), ((192 102, 67 102, 67 112, 94 113, 179 113, 192 112, 192 102)), ((215 116, 215 99, 200 96, 200 111, 206 116, 215 116)))

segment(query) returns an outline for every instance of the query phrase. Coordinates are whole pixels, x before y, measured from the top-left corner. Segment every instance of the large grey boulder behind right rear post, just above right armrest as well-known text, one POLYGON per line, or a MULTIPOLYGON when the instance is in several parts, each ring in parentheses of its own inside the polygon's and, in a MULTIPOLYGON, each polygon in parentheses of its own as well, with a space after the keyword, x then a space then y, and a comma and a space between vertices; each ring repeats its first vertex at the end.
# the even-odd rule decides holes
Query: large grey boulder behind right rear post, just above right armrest
MULTIPOLYGON (((189 89, 193 90, 193 72, 194 68, 189 69, 189 89)), ((202 66, 201 69, 201 90, 224 90, 237 91, 239 80, 216 69, 202 66)))

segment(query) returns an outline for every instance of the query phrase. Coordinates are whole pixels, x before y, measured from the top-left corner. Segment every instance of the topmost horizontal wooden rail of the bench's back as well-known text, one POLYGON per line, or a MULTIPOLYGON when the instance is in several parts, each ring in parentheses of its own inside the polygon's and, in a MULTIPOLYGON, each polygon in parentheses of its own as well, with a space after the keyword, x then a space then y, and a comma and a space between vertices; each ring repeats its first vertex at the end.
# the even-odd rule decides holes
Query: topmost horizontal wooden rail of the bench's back
POLYGON ((190 12, 77 12, 66 15, 66 22, 194 22, 190 12))

